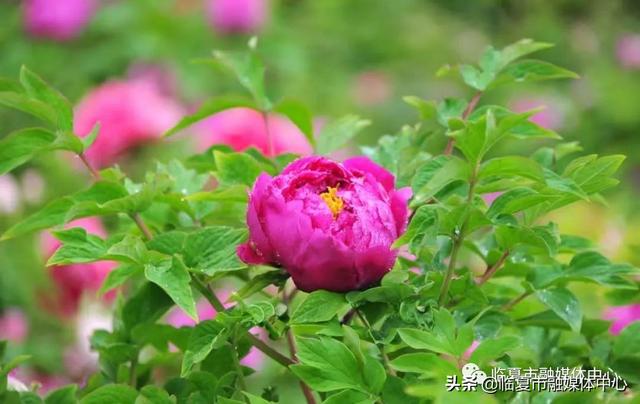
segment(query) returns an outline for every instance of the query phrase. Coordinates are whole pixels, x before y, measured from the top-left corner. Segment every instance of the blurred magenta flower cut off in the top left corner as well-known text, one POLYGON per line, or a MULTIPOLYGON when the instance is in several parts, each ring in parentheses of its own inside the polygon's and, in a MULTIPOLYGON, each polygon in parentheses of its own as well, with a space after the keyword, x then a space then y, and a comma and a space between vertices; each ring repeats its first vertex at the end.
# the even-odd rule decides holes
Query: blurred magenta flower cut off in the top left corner
POLYGON ((25 0, 24 25, 33 36, 66 41, 80 34, 95 10, 95 0, 25 0))

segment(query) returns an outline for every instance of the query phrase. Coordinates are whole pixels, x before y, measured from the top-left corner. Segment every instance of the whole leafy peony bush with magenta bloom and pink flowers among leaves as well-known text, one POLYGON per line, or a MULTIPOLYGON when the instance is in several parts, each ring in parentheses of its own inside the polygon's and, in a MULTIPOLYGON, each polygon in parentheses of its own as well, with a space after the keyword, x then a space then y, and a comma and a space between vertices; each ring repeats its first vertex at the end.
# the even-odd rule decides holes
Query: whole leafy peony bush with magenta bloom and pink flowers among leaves
POLYGON ((620 316, 585 315, 577 293, 598 285, 617 305, 631 303, 637 269, 548 219, 572 203, 600 202, 624 157, 580 155, 576 142, 532 119, 538 109, 485 102, 499 86, 576 79, 523 59, 549 44, 521 40, 489 47, 478 65, 443 67, 439 75, 468 85, 468 99, 406 97, 418 121, 344 161, 330 156, 368 122, 347 115, 314 133, 304 104, 269 98, 250 45, 210 61, 249 96, 213 98, 181 119, 178 106, 135 83, 108 84, 75 109, 27 68, 19 82, 1 83, 0 103, 42 125, 0 140, 0 174, 62 150, 89 182, 2 239, 50 231, 59 241, 49 243, 47 265, 71 277, 60 277, 74 292, 71 307, 81 292, 95 297, 96 279, 101 294, 117 295, 112 326, 90 339, 95 373, 43 397, 16 371, 28 358, 7 357, 1 402, 637 399, 640 322, 625 312, 610 332, 607 319, 620 316), (166 106, 161 116, 145 109, 150 102, 166 106), (105 108, 114 108, 113 121, 100 121, 105 108), (240 113, 251 121, 223 119, 240 113), (162 131, 209 143, 142 177, 111 165, 162 131), (505 154, 514 143, 532 152, 505 154), (514 367, 611 370, 627 392, 447 387, 469 369, 514 367))

